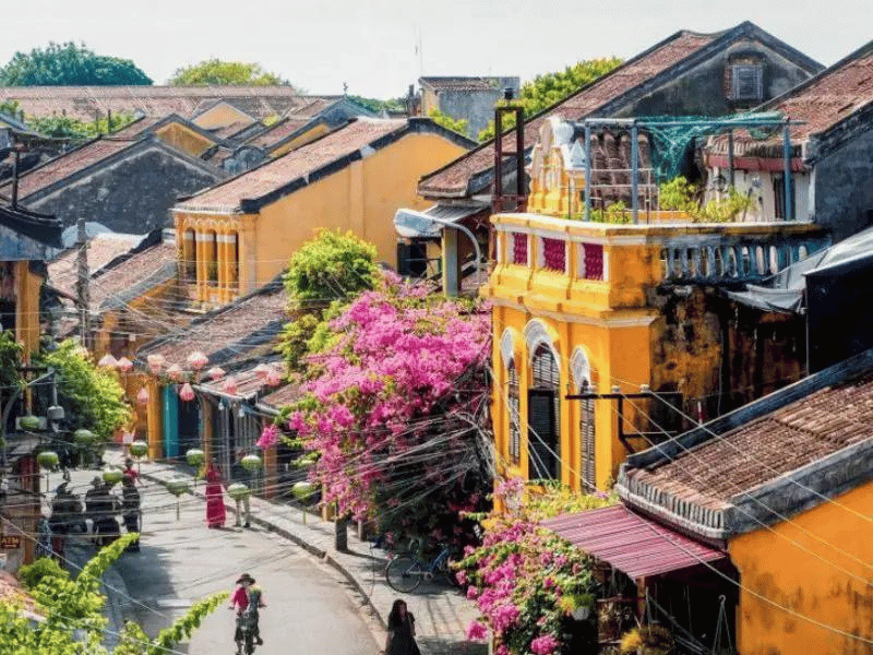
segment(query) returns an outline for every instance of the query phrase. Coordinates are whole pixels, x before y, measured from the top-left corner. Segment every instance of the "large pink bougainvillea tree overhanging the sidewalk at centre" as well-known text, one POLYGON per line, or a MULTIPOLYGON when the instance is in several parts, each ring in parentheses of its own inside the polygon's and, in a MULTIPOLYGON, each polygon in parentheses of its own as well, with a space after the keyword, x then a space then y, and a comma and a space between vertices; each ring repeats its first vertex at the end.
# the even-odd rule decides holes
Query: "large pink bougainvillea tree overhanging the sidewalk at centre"
POLYGON ((330 322, 288 427, 319 457, 311 479, 339 514, 452 543, 490 490, 490 313, 385 277, 330 322), (453 519, 454 516, 454 519, 453 519))

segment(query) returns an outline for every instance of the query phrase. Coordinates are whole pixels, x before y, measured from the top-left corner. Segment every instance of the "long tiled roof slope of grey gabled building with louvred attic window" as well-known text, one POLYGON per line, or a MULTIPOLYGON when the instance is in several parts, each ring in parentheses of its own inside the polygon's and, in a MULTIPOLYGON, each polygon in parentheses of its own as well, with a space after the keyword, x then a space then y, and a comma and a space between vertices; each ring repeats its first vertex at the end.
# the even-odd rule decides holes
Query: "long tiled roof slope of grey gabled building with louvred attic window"
MULTIPOLYGON (((557 115, 565 120, 579 120, 589 116, 608 102, 675 66, 693 52, 715 40, 719 34, 693 34, 681 32, 673 38, 643 56, 631 59, 610 73, 583 87, 574 95, 546 109, 525 123, 525 147, 531 147, 546 117, 557 115)), ((504 136, 506 151, 515 150, 515 134, 504 136)), ((494 163, 494 142, 488 141, 478 148, 455 159, 444 168, 424 177, 418 186, 422 195, 465 195, 470 179, 490 170, 494 163)))

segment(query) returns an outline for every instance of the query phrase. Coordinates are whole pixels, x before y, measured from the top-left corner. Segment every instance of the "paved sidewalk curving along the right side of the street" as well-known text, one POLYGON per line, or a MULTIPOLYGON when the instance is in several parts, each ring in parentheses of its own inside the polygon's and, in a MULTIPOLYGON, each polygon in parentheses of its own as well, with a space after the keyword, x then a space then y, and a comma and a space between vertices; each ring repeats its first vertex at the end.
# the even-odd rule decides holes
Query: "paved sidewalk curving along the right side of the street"
MULTIPOLYGON (((107 453, 107 458, 120 462, 120 454, 107 453)), ((166 463, 141 464, 141 475, 155 483, 166 483, 174 477, 189 476, 190 467, 166 463)), ((194 493, 202 497, 203 485, 194 493)), ((235 503, 226 497, 225 504, 232 514, 235 503)), ((400 594, 385 582, 385 552, 358 539, 348 531, 348 550, 334 548, 334 523, 308 514, 306 523, 300 509, 282 502, 251 498, 251 521, 290 539, 315 557, 339 571, 367 599, 370 610, 383 630, 391 605, 400 594)), ((416 617, 416 641, 422 655, 483 655, 486 644, 468 642, 465 630, 476 618, 475 605, 456 588, 430 584, 427 581, 414 593, 403 596, 409 611, 416 617)), ((384 632, 383 632, 384 639, 384 632)))

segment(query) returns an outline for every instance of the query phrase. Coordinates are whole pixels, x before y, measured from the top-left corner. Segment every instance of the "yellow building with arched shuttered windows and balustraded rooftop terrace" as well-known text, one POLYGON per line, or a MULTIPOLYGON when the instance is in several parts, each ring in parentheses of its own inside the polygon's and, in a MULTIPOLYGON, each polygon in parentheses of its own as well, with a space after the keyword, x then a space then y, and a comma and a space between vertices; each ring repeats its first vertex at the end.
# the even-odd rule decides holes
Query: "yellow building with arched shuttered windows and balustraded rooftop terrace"
POLYGON ((531 212, 492 216, 495 263, 481 294, 493 308, 502 473, 602 489, 629 453, 658 439, 648 432, 678 431, 689 414, 725 412, 803 373, 802 320, 707 289, 762 279, 827 239, 809 224, 654 212, 648 224, 579 221, 578 147, 572 126, 543 121, 531 212), (588 396, 566 397, 579 393, 588 396))

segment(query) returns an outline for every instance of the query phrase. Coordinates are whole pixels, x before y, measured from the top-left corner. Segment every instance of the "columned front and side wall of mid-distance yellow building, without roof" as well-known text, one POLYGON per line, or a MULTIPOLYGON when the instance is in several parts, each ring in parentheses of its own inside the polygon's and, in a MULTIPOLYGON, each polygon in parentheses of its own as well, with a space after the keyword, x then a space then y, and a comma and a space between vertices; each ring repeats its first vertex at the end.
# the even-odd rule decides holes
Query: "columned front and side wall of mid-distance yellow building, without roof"
POLYGON ((324 228, 352 231, 376 247, 380 261, 396 266, 394 213, 404 206, 424 209, 416 195, 418 178, 465 151, 439 134, 410 131, 254 213, 177 207, 183 276, 194 283, 196 300, 229 302, 273 279, 324 228))

